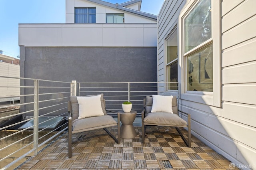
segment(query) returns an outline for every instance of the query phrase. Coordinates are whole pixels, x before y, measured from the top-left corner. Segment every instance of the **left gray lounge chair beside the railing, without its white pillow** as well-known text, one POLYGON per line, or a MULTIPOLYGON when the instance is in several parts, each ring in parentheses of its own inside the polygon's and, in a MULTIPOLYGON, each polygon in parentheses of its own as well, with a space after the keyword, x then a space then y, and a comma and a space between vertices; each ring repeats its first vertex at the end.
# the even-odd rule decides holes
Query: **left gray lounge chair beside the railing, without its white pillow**
MULTIPOLYGON (((85 140, 87 138, 92 138, 96 136, 102 135, 110 135, 118 144, 120 142, 120 116, 118 115, 118 123, 106 113, 106 105, 105 100, 103 98, 103 94, 100 94, 101 97, 101 107, 103 110, 104 115, 102 116, 95 116, 95 117, 87 117, 83 119, 78 119, 78 112, 79 112, 79 104, 77 100, 77 96, 70 96, 70 101, 68 102, 68 157, 72 157, 72 143, 78 142, 81 140, 85 140), (118 126, 118 138, 116 138, 113 134, 111 134, 107 127, 118 126), (72 134, 85 132, 89 130, 95 130, 103 128, 107 133, 105 134, 98 134, 94 136, 89 136, 81 139, 77 139, 72 141, 72 134)), ((90 95, 96 96, 96 95, 90 95)), ((85 96, 85 97, 90 97, 85 96)))

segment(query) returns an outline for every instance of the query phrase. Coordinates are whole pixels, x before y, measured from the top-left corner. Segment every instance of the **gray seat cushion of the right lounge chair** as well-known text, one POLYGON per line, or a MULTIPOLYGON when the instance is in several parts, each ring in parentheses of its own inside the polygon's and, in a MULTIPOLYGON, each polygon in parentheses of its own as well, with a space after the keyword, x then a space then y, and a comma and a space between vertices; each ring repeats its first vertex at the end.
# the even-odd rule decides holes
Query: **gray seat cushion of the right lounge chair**
POLYGON ((145 124, 150 125, 173 127, 186 127, 187 125, 187 122, 181 119, 178 115, 166 112, 148 113, 143 121, 145 124))

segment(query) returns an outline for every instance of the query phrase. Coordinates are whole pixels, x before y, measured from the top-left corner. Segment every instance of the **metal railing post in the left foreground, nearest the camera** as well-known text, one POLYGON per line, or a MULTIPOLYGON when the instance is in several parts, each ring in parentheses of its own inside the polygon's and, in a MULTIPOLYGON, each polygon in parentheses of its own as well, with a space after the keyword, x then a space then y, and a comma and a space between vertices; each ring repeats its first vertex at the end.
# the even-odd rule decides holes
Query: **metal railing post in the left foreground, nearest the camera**
POLYGON ((38 107, 38 93, 39 85, 38 80, 34 80, 34 155, 36 156, 38 152, 38 116, 39 116, 39 107, 38 107))

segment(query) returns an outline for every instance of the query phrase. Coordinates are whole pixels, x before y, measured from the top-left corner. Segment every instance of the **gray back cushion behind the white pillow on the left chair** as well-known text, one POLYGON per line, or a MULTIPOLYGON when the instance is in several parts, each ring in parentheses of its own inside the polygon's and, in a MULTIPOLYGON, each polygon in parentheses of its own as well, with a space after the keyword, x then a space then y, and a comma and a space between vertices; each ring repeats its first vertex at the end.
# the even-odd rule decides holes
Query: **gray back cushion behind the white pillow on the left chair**
MULTIPOLYGON (((100 101, 101 101, 101 107, 104 115, 107 115, 106 113, 106 105, 105 105, 105 100, 103 98, 103 94, 100 94, 100 101)), ((90 96, 98 96, 98 95, 87 95, 87 96, 80 96, 80 97, 90 97, 90 96)), ((70 102, 72 105, 72 121, 75 119, 78 119, 79 116, 79 104, 77 101, 77 96, 70 96, 70 102)))

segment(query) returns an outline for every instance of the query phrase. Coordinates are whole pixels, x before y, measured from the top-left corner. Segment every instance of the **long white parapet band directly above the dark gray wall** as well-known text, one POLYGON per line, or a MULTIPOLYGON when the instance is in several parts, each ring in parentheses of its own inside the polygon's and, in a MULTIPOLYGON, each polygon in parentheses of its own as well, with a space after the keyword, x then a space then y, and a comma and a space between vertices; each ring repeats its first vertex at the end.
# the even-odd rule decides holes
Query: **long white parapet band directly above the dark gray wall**
POLYGON ((19 24, 28 47, 156 47, 157 24, 19 24))

